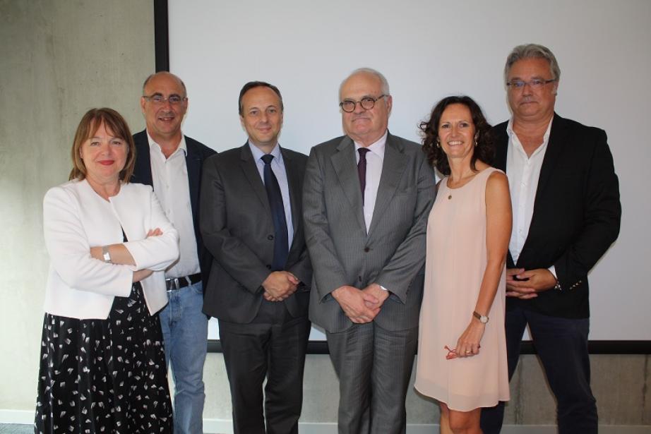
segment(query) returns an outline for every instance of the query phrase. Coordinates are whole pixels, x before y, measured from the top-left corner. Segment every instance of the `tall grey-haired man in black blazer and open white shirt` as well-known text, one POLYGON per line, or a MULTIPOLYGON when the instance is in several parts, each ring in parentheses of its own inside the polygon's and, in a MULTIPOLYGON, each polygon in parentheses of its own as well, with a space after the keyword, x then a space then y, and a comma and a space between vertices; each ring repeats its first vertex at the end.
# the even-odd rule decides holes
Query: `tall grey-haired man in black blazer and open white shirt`
MULTIPOLYGON (((619 234, 619 182, 606 133, 554 113, 560 69, 537 44, 509 54, 513 118, 494 127, 496 167, 506 170, 513 234, 506 277, 506 344, 513 375, 529 325, 558 403, 559 433, 597 433, 590 389, 587 274, 619 234)), ((503 404, 482 411, 499 433, 503 404)))

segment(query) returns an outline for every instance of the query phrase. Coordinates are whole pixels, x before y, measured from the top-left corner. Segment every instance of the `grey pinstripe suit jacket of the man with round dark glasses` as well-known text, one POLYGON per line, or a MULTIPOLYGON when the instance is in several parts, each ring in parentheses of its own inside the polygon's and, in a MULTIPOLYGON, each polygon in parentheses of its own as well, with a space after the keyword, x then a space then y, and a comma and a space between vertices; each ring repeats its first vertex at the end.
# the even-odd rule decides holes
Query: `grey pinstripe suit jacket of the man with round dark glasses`
POLYGON ((353 323, 330 294, 378 283, 391 294, 375 321, 385 330, 418 325, 425 231, 436 188, 420 145, 389 134, 369 233, 355 147, 348 136, 312 148, 305 172, 305 236, 313 264, 310 319, 328 332, 353 323))

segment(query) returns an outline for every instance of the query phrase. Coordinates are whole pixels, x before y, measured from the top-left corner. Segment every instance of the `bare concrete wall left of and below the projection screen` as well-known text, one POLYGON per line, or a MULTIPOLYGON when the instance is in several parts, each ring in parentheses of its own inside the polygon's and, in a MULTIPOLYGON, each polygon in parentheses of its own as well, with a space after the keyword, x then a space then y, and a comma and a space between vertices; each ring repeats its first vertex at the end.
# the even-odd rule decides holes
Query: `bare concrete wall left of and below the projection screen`
MULTIPOLYGON (((138 95, 154 70, 153 2, 0 0, 0 40, 0 422, 29 423, 48 266, 42 196, 67 179, 87 109, 113 107, 133 131, 143 128, 138 95)), ((651 426, 650 356, 591 360, 601 423, 651 426)), ((221 354, 208 355, 204 372, 207 428, 223 426, 231 410, 221 354)), ((338 384, 328 356, 308 356, 305 378, 301 422, 333 423, 338 384)), ((523 356, 511 390, 506 423, 554 423, 537 358, 523 356)), ((411 390, 407 420, 436 423, 436 405, 411 390)))

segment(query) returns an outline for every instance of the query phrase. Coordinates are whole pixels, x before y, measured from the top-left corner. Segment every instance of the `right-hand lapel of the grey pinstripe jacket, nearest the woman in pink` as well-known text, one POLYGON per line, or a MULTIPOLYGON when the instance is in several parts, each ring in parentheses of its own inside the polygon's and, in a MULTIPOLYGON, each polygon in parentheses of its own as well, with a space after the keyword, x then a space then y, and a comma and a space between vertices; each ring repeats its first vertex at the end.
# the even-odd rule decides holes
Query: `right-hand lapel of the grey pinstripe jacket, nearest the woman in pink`
POLYGON ((395 189, 398 188, 398 183, 402 177, 402 172, 405 171, 406 162, 407 157, 403 153, 400 142, 395 140, 393 135, 388 134, 386 146, 384 147, 382 175, 380 176, 380 185, 378 186, 378 195, 375 200, 369 234, 373 233, 373 229, 378 225, 386 207, 393 198, 395 189))

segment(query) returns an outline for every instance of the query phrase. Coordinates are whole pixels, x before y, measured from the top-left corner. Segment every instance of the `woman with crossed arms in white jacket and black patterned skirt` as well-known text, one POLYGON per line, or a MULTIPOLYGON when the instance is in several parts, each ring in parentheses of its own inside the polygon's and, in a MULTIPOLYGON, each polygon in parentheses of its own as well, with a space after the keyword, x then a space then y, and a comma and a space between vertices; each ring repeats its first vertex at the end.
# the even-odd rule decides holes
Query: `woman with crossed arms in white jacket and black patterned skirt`
POLYGON ((172 433, 157 312, 179 239, 152 188, 129 183, 135 152, 117 111, 91 109, 71 180, 45 195, 37 432, 172 433))

